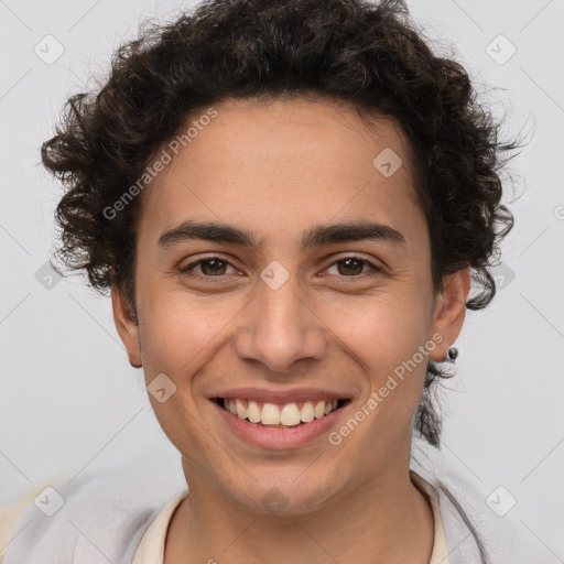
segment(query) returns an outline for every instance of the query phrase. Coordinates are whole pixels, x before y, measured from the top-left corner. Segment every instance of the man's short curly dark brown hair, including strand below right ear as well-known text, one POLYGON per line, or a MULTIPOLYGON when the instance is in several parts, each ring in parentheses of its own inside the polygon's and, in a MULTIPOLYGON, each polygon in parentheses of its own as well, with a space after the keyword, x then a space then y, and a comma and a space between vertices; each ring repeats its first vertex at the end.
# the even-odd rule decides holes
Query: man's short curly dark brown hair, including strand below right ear
MULTIPOLYGON (((435 55, 401 0, 208 0, 171 24, 149 24, 112 57, 105 84, 67 100, 43 164, 65 185, 56 208, 55 258, 85 269, 101 293, 116 284, 134 307, 137 197, 122 196, 187 120, 228 98, 318 96, 364 117, 386 116, 406 135, 415 192, 424 212, 435 290, 471 267, 477 292, 496 293, 488 271, 513 225, 500 204, 499 172, 519 148, 498 141, 497 122, 478 102, 464 67, 435 55), (432 226, 432 228, 431 228, 432 226)), ((432 387, 451 377, 429 360, 414 429, 440 445, 432 387)))

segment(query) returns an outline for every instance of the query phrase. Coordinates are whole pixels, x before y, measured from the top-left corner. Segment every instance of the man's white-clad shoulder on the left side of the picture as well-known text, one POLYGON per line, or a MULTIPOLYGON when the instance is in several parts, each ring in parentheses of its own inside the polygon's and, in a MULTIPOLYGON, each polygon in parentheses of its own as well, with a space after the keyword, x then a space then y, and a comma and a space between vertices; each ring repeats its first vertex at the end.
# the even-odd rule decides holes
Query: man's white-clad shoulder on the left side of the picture
POLYGON ((8 508, 2 564, 128 562, 178 486, 131 475, 84 476, 48 485, 23 508, 8 508))

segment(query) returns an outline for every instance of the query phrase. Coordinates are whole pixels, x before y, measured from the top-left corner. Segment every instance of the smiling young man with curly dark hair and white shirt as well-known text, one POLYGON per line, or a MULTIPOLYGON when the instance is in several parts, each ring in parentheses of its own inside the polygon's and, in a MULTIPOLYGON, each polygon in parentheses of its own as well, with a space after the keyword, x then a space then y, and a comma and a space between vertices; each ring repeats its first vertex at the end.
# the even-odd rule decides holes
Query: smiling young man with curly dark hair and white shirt
POLYGON ((43 162, 188 489, 63 487, 90 543, 62 512, 6 564, 487 562, 411 447, 495 293, 496 133, 400 2, 216 0, 123 46, 43 162))

